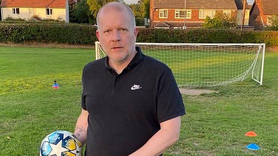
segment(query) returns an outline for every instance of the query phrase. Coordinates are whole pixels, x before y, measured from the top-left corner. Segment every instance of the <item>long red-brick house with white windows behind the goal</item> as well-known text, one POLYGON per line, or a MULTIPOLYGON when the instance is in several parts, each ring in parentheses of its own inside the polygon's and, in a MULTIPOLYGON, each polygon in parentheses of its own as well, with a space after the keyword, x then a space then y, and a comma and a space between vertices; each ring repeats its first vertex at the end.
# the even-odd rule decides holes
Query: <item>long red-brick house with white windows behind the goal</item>
MULTIPOLYGON (((244 25, 248 25, 250 6, 244 25)), ((151 28, 202 27, 206 16, 229 14, 242 21, 243 0, 150 0, 151 28), (184 9, 186 8, 186 9, 184 9)))

